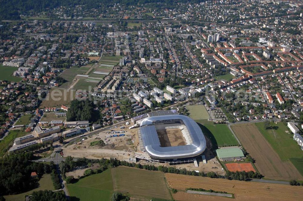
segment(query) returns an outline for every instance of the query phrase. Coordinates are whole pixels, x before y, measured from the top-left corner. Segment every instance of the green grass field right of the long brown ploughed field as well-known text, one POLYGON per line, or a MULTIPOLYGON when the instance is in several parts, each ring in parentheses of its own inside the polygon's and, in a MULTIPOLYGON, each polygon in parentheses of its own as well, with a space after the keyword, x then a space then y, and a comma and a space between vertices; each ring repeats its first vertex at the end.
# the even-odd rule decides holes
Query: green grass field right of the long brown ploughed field
POLYGON ((293 133, 282 123, 271 124, 273 129, 265 130, 264 123, 256 123, 271 147, 278 153, 282 161, 290 160, 303 176, 303 152, 293 140, 293 133))

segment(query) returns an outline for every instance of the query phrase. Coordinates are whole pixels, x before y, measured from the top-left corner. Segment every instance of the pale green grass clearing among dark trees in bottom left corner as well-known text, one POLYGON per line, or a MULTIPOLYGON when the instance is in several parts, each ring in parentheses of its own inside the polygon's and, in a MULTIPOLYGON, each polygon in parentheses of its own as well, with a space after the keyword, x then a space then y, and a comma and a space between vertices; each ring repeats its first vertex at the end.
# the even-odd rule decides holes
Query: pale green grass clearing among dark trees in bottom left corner
POLYGON ((39 186, 35 189, 32 189, 25 193, 4 196, 4 198, 6 200, 10 200, 10 201, 20 201, 20 200, 24 200, 26 195, 31 195, 34 191, 55 190, 50 174, 44 174, 38 183, 39 183, 39 186))

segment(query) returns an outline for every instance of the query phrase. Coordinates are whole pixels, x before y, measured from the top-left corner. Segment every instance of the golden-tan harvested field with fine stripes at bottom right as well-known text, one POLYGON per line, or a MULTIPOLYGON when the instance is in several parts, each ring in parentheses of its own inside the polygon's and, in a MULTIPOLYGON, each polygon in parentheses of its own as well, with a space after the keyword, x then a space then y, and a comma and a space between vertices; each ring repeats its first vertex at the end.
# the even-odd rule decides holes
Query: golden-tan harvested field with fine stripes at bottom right
MULTIPOLYGON (((233 193, 235 200, 300 200, 302 187, 273 183, 245 182, 238 180, 211 179, 209 177, 188 176, 165 173, 168 186, 177 190, 203 188, 233 193)), ((217 196, 188 195, 178 192, 172 194, 176 200, 230 200, 217 196), (212 199, 212 197, 214 197, 212 199)))

